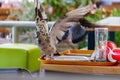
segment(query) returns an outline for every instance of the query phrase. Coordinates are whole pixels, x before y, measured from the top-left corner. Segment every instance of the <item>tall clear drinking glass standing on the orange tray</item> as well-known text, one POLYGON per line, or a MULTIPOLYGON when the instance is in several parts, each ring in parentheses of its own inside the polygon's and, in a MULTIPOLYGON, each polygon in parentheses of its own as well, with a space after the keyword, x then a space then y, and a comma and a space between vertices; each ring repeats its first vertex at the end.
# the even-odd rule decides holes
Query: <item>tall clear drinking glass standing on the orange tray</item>
POLYGON ((95 28, 95 60, 106 61, 108 28, 95 28))

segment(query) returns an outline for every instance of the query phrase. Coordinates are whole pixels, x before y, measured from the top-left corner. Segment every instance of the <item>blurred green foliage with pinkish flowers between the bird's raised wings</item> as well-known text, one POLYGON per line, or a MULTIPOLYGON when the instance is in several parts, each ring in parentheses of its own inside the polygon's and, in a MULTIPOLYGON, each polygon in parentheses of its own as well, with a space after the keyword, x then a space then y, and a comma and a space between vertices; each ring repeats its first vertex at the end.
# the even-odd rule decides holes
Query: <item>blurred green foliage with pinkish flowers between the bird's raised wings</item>
POLYGON ((94 3, 94 0, 44 0, 42 5, 44 6, 48 20, 53 21, 64 16, 66 12, 76 9, 80 5, 88 5, 89 2, 94 3))

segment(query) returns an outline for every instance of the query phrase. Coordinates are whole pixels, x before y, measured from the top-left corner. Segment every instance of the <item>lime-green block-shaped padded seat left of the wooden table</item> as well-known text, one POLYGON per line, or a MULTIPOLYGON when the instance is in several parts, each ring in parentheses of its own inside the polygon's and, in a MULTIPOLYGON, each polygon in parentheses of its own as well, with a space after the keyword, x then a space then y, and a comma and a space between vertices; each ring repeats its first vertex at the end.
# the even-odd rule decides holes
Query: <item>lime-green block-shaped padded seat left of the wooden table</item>
POLYGON ((21 68, 29 71, 38 71, 40 62, 38 58, 41 50, 33 44, 1 44, 0 68, 21 68))

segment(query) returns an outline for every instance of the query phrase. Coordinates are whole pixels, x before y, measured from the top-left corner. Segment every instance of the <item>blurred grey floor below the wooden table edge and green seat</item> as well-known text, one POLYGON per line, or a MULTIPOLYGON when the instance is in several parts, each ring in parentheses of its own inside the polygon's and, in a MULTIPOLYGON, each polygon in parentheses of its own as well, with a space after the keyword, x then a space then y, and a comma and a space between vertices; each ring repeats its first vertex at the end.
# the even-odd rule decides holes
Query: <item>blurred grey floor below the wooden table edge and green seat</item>
POLYGON ((120 75, 81 74, 55 71, 29 73, 21 70, 0 70, 0 80, 120 80, 120 75))

